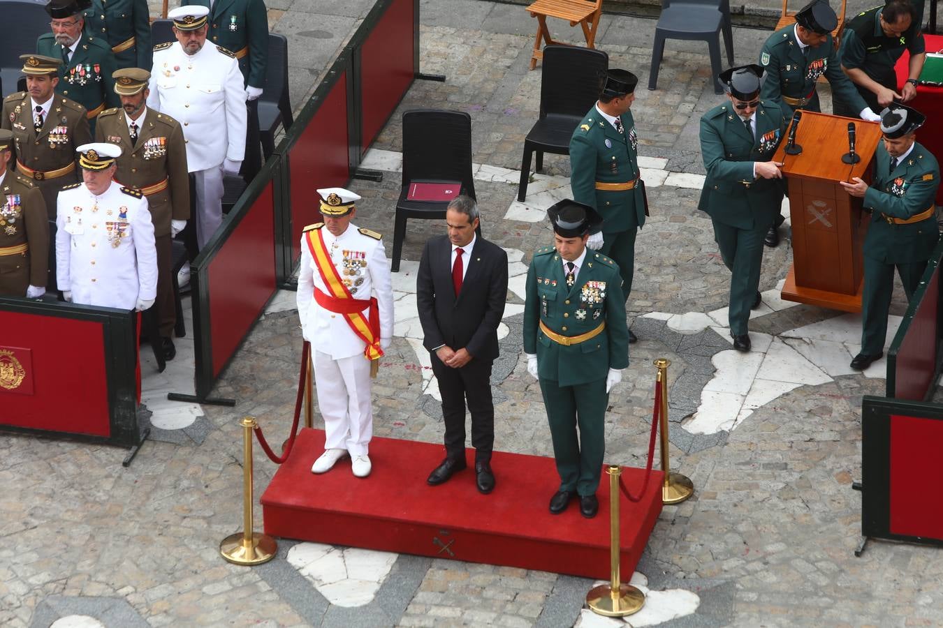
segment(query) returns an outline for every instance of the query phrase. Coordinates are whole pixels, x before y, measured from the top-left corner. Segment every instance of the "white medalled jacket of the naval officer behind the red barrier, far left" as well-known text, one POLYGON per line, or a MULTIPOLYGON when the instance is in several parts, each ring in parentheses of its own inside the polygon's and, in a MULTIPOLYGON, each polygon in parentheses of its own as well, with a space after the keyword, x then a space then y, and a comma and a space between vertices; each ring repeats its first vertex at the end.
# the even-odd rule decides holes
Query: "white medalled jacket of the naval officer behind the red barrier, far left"
POLYGON ((95 196, 85 184, 58 193, 58 289, 72 302, 122 310, 157 296, 157 250, 147 199, 114 182, 95 196))

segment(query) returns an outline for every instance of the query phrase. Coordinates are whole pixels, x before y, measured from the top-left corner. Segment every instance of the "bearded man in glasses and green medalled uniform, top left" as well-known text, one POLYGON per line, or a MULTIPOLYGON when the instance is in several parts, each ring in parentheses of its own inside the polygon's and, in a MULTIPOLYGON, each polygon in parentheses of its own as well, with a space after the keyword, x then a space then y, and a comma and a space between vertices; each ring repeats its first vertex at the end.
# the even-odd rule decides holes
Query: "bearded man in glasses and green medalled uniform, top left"
POLYGON ((112 72, 117 69, 108 41, 82 32, 85 18, 78 0, 52 0, 46 12, 52 17, 52 32, 36 41, 39 55, 62 59, 56 91, 86 108, 91 133, 95 117, 121 102, 114 92, 112 72))

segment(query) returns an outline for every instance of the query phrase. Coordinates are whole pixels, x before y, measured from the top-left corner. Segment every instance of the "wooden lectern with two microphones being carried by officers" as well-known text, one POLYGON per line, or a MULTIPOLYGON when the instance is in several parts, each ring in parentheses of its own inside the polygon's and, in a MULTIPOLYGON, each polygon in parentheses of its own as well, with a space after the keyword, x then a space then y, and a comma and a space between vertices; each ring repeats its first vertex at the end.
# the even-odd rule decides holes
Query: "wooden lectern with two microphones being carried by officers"
POLYGON ((792 223, 792 267, 782 297, 845 312, 861 312, 861 243, 869 216, 862 199, 838 184, 861 177, 870 182, 881 126, 852 118, 802 111, 796 133, 800 154, 786 154, 780 144, 773 161, 784 162, 792 223), (857 164, 841 160, 848 153, 848 123, 855 126, 857 164))

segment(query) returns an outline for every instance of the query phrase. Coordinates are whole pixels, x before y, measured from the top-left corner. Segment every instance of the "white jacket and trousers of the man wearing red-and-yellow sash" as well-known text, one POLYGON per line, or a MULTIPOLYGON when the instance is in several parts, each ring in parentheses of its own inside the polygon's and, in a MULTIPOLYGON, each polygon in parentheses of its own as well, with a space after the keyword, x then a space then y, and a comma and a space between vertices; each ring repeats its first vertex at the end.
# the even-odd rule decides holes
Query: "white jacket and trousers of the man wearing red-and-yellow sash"
MULTIPOLYGON (((393 292, 383 241, 360 233, 353 224, 338 237, 326 227, 320 231, 351 296, 377 299, 380 345, 386 348, 393 333, 393 292), (344 274, 345 268, 354 274, 344 274)), ((301 242, 298 315, 314 356, 318 408, 324 417, 326 435, 324 448, 347 449, 351 456, 362 456, 369 453, 373 434, 370 361, 363 355, 366 344, 350 329, 343 314, 329 312, 314 300, 314 289, 331 293, 314 266, 306 239, 307 233, 302 235, 301 242)))

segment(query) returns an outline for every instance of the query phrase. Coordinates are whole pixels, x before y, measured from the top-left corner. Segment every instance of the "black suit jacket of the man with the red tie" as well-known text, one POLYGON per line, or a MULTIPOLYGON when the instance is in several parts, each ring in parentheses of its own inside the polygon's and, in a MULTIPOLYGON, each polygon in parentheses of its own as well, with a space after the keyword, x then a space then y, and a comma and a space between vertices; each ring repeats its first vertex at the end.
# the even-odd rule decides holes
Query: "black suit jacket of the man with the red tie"
POLYGON ((452 284, 452 243, 440 235, 425 243, 416 302, 424 338, 432 351, 441 345, 456 351, 465 347, 475 360, 498 357, 498 323, 505 314, 507 253, 477 237, 465 271, 462 289, 455 298, 452 284))

